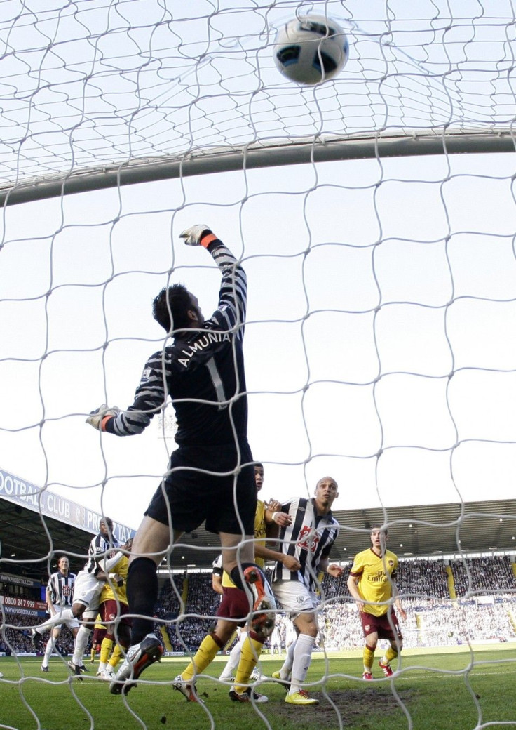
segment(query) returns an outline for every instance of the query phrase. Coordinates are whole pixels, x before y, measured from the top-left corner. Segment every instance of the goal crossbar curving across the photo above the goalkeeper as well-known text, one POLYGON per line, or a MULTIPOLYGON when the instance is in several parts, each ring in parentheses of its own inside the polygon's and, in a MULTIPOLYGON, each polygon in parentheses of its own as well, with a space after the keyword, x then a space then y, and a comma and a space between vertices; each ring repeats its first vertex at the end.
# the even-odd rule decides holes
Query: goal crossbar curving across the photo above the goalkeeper
POLYGON ((212 147, 181 155, 136 158, 121 164, 106 164, 77 169, 66 174, 50 174, 0 185, 0 204, 16 205, 28 201, 171 180, 200 174, 233 172, 284 165, 461 153, 508 153, 516 150, 512 129, 480 132, 413 132, 367 137, 310 137, 286 142, 270 140, 241 147, 212 147))

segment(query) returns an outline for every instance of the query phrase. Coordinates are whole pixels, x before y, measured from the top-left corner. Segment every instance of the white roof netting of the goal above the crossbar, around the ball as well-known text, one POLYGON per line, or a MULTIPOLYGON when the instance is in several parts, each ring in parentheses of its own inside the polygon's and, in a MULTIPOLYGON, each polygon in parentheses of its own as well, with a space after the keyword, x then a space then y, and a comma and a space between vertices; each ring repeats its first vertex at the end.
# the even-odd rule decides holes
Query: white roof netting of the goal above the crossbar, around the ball
POLYGON ((4 0, 0 180, 310 136, 507 130, 510 3, 316 3, 351 44, 344 72, 300 88, 273 64, 294 1, 4 0))

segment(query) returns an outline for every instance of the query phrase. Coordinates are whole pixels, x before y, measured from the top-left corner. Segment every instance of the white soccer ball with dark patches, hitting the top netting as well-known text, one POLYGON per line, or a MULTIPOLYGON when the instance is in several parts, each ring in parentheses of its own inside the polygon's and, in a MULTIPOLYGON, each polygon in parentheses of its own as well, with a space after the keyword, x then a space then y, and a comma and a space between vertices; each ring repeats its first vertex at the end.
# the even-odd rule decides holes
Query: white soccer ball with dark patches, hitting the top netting
POLYGON ((274 61, 298 84, 318 84, 336 76, 348 60, 349 45, 335 20, 302 15, 286 23, 274 40, 274 61))

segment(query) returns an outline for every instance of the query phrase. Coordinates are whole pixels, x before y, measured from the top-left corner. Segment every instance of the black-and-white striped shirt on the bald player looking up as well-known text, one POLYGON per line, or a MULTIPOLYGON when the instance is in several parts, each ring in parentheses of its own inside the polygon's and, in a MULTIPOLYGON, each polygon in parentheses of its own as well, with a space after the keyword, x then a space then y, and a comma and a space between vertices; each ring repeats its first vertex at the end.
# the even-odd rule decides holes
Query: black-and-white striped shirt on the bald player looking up
POLYGON ((299 580, 309 591, 316 591, 318 567, 339 534, 339 523, 332 516, 316 515, 313 499, 297 497, 281 507, 292 517, 292 524, 282 527, 279 539, 281 552, 294 556, 301 564, 301 569, 290 571, 283 563, 277 562, 273 572, 274 580, 299 580))

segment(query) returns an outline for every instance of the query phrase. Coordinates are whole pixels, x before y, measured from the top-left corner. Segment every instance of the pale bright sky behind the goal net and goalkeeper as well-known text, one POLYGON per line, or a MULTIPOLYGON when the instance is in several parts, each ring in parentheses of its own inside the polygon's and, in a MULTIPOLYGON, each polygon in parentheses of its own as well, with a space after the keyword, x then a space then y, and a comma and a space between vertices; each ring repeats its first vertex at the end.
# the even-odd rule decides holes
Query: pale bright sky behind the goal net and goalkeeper
MULTIPOLYGON (((508 20, 505 25, 500 19, 488 22, 485 15, 477 26, 457 22, 455 30, 441 31, 439 38, 450 41, 447 63, 460 70, 448 78, 441 75, 445 46, 437 31, 433 41, 427 37, 430 26, 446 27, 445 4, 416 3, 411 19, 403 17, 404 4, 389 3, 399 28, 392 45, 386 45, 382 3, 372 4, 367 18, 356 14, 356 3, 328 3, 328 14, 335 11, 348 34, 350 59, 337 82, 300 88, 274 68, 273 35, 254 31, 257 17, 257 28, 263 27, 259 13, 248 30, 232 12, 234 4, 220 4, 211 27, 225 23, 232 36, 220 31, 222 41, 206 51, 201 47, 208 28, 203 14, 213 6, 195 3, 197 19, 192 9, 189 18, 181 19, 183 6, 167 5, 176 21, 171 28, 181 26, 184 39, 182 55, 181 45, 168 50, 176 68, 184 66, 180 77, 167 75, 161 53, 155 87, 142 82, 147 93, 141 94, 132 128, 129 99, 134 104, 137 95, 125 85, 134 85, 135 74, 109 74, 105 56, 88 82, 92 93, 85 92, 73 131, 65 123, 67 113, 77 111, 79 96, 72 85, 66 90, 66 111, 45 96, 50 92, 42 85, 42 103, 31 94, 28 115, 22 103, 26 96, 20 94, 18 128, 30 122, 42 136, 24 132, 17 147, 12 142, 10 157, 9 145, 0 147, 5 179, 12 179, 15 149, 22 179, 38 166, 55 172, 60 155, 71 169, 88 164, 93 155, 122 161, 127 140, 134 142, 130 154, 136 156, 151 147, 171 153, 181 145, 190 150, 219 145, 223 135, 236 145, 258 133, 294 139, 321 129, 356 135, 399 132, 402 126, 422 129, 429 123, 439 131, 446 120, 485 131, 510 119, 510 78, 504 80, 500 72, 512 27, 508 20), (423 11, 435 13, 436 8, 442 17, 418 30, 423 11), (237 43, 241 27, 249 37, 237 43), (404 45, 396 43, 401 38, 404 45), (484 45, 475 45, 477 40, 484 45), (489 93, 486 74, 478 72, 493 60, 485 54, 486 42, 499 61, 489 66, 499 69, 489 93), (93 88, 102 88, 104 81, 103 92, 95 96, 93 88), (248 91, 239 91, 239 85, 248 91), (163 107, 149 101, 149 88, 163 107), (472 95, 463 96, 459 107, 465 89, 472 95), (117 93, 123 114, 110 117, 107 110, 117 93), (47 110, 52 107, 48 119, 45 104, 47 110), (127 134, 116 145, 117 120, 127 134), (64 138, 77 158, 60 146, 64 138)), ((291 17, 296 5, 278 3, 270 22, 291 17)), ((95 0, 97 6, 110 4, 95 0)), ((119 9, 129 7, 136 24, 141 4, 120 4, 119 9)), ((450 7, 462 17, 464 3, 450 7)), ((152 4, 149 23, 158 10, 152 4)), ((503 9, 498 12, 503 15, 503 9)), ((48 31, 50 23, 45 27, 48 31)), ((25 35, 34 32, 28 28, 9 36, 9 42, 28 39, 24 47, 38 47, 36 37, 25 35)), ((55 53, 79 54, 79 43, 74 50, 59 44, 63 28, 70 31, 54 28, 55 53)), ((108 47, 103 28, 98 42, 89 46, 97 53, 108 47)), ((148 28, 138 33, 115 36, 127 44, 120 58, 131 38, 138 38, 141 48, 144 36, 153 48, 162 47, 158 31, 152 44, 148 28)), ((33 55, 41 61, 34 67, 44 69, 42 77, 50 74, 55 59, 51 63, 48 55, 33 55)), ((15 61, 30 57, 13 55, 13 74, 15 61)), ((55 66, 52 73, 58 83, 64 71, 55 66)), ((8 128, 8 118, 4 112, 0 128, 8 128)), ((125 439, 101 436, 85 418, 101 403, 124 408, 132 402, 146 358, 163 345, 151 315, 160 288, 185 283, 205 316, 216 307, 220 278, 211 257, 179 239, 183 228, 207 223, 242 258, 248 274, 249 440, 254 457, 265 464, 266 499, 313 493, 325 475, 339 483, 335 507, 340 510, 512 498, 514 172, 515 155, 509 153, 354 160, 219 172, 5 208, 0 469, 138 526, 165 472, 173 437, 160 429, 157 418, 141 436, 125 439)))

